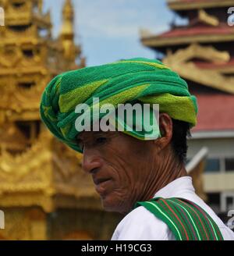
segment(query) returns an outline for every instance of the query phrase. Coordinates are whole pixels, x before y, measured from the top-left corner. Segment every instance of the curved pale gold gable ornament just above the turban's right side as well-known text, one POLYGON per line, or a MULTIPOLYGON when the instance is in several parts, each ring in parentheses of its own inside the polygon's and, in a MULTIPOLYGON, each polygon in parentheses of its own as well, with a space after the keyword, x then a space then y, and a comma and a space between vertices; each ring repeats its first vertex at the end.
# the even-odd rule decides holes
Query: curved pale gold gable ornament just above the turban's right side
POLYGON ((229 52, 218 51, 212 46, 191 44, 177 52, 168 52, 163 62, 192 83, 234 94, 232 58, 229 52))

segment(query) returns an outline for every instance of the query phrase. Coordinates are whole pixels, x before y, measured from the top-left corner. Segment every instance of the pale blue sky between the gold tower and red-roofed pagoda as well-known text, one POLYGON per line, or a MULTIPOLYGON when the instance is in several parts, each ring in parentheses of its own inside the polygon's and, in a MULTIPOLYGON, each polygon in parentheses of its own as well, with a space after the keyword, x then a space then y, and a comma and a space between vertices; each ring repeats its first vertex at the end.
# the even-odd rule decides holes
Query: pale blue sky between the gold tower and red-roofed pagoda
MULTIPOLYGON (((44 0, 51 10, 53 36, 61 26, 65 0, 44 0)), ((168 30, 173 19, 165 0, 73 0, 76 43, 81 44, 87 66, 133 57, 155 58, 140 44, 141 28, 152 33, 168 30)))

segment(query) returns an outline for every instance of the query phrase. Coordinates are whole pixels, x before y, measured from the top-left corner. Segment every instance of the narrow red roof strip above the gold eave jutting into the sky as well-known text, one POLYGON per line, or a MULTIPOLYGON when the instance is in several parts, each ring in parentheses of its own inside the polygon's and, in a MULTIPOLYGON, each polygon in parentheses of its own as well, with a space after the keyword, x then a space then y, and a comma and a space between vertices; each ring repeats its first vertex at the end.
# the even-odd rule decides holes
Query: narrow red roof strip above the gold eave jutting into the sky
POLYGON ((234 28, 227 24, 220 24, 218 27, 197 25, 195 27, 178 27, 169 30, 158 37, 187 37, 195 35, 209 35, 209 34, 234 34, 234 28))

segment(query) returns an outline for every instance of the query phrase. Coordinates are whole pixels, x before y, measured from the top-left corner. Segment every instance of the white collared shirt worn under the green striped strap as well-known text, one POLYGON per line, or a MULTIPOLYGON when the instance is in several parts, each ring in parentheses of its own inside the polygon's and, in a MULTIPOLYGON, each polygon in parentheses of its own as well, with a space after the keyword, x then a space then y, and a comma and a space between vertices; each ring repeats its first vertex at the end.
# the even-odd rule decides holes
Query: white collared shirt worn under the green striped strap
MULTIPOLYGON (((205 202, 195 194, 190 176, 184 176, 173 180, 167 186, 158 190, 154 197, 181 197, 198 204, 216 222, 224 240, 234 240, 234 233, 205 202)), ((176 240, 172 231, 165 222, 158 219, 143 206, 129 212, 113 233, 112 240, 176 240)))

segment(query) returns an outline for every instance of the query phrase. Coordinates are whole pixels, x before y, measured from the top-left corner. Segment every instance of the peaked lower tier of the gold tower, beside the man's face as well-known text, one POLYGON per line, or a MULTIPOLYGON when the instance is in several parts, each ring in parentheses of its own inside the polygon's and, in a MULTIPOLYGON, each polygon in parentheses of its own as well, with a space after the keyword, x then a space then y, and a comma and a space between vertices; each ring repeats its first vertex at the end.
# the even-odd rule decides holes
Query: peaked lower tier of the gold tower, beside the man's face
MULTIPOLYGON (((80 161, 81 155, 55 140, 48 131, 41 133, 31 148, 22 154, 11 155, 2 148, 1 205, 39 205, 45 212, 51 212, 56 208, 55 194, 97 197, 90 176, 81 171, 80 161), (12 200, 9 194, 12 194, 12 200)), ((66 206, 66 201, 63 205, 66 206)))

